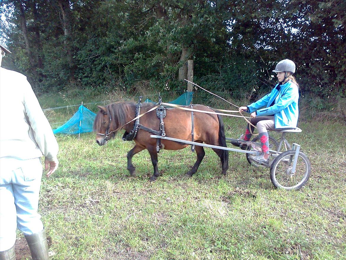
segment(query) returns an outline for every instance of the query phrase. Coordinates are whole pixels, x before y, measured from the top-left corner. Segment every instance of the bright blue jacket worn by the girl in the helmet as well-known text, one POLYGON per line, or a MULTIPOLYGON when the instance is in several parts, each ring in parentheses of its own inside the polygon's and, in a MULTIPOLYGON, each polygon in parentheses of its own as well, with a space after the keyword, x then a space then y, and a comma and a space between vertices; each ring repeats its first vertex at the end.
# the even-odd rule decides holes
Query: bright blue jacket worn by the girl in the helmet
POLYGON ((292 81, 287 81, 285 84, 280 85, 278 90, 276 84, 272 91, 262 97, 260 100, 248 105, 248 112, 256 111, 256 116, 265 116, 274 114, 275 128, 296 128, 298 123, 298 99, 299 91, 298 86, 292 81), (278 98, 277 95, 279 95, 278 98), (273 101, 276 102, 270 106, 273 101), (262 108, 261 107, 264 107, 262 108))

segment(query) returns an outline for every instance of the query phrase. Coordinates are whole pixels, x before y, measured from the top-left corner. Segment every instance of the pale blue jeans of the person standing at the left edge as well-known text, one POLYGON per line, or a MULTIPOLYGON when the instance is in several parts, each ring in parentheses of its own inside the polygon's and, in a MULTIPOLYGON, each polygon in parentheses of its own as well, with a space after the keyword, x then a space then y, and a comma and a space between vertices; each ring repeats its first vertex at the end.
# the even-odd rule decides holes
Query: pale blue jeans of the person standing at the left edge
POLYGON ((37 213, 43 172, 40 158, 19 161, 19 168, 0 172, 0 251, 15 244, 17 227, 25 235, 43 230, 37 213))

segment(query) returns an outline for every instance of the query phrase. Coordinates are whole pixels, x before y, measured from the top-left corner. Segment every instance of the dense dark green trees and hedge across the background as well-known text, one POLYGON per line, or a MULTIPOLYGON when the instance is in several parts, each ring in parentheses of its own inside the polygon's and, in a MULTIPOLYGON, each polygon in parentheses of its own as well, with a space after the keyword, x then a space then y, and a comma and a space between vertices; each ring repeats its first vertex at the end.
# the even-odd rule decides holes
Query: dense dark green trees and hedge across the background
POLYGON ((343 0, 69 2, 68 38, 57 1, 1 2, 6 22, 0 31, 13 52, 3 66, 27 75, 36 92, 70 87, 130 91, 139 81, 168 83, 176 90, 179 68, 193 59, 196 82, 250 95, 270 89, 275 63, 289 58, 297 64, 303 94, 346 96, 343 0), (75 64, 74 82, 67 47, 75 64))

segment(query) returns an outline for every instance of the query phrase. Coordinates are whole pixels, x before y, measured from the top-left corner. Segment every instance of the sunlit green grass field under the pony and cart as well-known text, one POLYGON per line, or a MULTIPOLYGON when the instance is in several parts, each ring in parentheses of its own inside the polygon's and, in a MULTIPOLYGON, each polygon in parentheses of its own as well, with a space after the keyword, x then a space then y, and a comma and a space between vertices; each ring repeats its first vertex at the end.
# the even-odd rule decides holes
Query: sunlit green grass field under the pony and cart
MULTIPOLYGON (((60 122, 70 112, 47 116, 60 122)), ((224 121, 227 137, 243 132, 244 120, 224 121)), ((51 259, 346 259, 345 122, 301 119, 299 127, 288 140, 312 164, 299 191, 274 189, 269 169, 244 154, 230 152, 224 176, 208 148, 190 179, 195 153, 160 151, 162 176, 149 183, 146 150, 133 158, 137 177, 129 176, 133 142, 122 133, 102 147, 92 133, 58 136, 60 167, 43 177, 39 205, 51 259)))

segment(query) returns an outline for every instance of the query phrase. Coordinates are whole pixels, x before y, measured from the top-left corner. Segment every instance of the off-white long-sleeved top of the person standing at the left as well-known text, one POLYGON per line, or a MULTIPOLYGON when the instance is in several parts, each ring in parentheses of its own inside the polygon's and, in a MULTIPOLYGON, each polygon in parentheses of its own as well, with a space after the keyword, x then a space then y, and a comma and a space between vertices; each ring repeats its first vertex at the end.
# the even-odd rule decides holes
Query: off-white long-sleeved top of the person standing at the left
POLYGON ((0 168, 44 155, 56 161, 58 144, 26 77, 0 67, 0 168))

